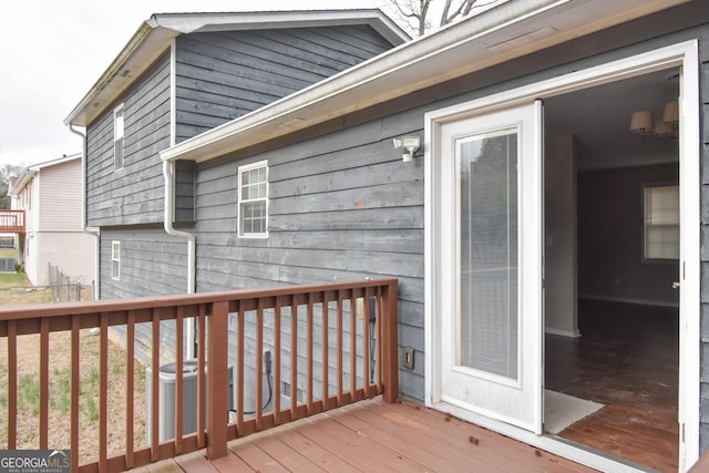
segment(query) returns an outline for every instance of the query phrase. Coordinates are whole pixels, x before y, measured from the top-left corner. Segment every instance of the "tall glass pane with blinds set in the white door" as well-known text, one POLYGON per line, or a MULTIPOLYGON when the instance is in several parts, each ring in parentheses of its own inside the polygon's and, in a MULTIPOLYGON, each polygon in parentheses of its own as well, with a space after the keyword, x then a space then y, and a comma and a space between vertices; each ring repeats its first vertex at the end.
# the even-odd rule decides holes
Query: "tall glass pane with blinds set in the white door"
POLYGON ((456 141, 458 366, 517 379, 517 130, 456 141))

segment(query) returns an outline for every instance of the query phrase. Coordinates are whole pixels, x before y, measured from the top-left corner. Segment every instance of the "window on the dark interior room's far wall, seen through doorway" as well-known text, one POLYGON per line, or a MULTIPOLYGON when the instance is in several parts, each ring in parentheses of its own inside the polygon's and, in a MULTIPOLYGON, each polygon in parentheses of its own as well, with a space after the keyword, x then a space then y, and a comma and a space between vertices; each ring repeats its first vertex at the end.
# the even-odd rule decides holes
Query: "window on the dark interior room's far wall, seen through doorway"
POLYGON ((644 259, 679 259, 679 186, 645 186, 644 259))

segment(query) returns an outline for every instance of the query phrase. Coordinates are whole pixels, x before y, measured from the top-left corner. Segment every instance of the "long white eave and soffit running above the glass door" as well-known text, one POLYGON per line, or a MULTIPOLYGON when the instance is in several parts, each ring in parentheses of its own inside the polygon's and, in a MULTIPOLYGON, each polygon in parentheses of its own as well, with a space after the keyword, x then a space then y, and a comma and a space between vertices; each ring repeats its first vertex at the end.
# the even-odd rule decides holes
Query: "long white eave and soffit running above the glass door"
POLYGON ((686 1, 506 2, 186 140, 161 157, 208 161, 686 1))

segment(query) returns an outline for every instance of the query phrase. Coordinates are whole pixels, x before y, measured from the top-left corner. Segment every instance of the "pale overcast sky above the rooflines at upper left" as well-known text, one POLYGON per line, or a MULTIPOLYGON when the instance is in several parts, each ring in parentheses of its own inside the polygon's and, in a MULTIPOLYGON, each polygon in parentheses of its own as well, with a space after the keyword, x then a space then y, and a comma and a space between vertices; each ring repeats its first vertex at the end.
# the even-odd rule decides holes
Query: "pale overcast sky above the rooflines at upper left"
POLYGON ((152 13, 371 8, 386 0, 6 0, 0 165, 81 152, 64 119, 152 13))

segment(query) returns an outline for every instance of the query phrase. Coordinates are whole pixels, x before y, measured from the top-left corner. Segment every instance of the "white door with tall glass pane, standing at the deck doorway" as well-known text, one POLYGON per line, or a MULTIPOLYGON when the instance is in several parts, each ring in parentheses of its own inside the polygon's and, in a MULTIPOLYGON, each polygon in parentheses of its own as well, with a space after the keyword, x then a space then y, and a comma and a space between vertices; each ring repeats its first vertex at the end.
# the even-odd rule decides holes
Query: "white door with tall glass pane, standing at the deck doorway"
POLYGON ((439 399, 542 433, 542 103, 461 115, 434 134, 449 295, 439 399))

